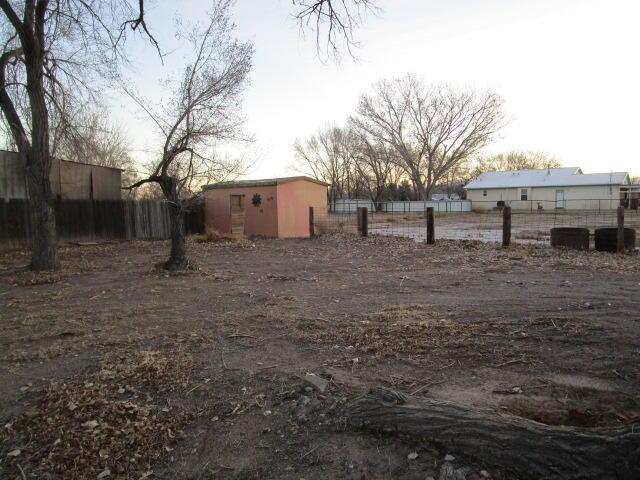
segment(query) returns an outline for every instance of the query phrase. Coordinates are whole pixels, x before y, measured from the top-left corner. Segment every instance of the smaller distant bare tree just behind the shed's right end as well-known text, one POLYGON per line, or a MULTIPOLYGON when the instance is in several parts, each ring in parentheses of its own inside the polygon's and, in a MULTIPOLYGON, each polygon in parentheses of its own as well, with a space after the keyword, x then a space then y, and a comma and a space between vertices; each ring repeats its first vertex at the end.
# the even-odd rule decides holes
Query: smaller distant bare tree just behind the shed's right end
POLYGON ((293 148, 294 168, 330 185, 330 205, 350 195, 354 183, 354 148, 348 129, 327 127, 304 141, 296 140, 293 148))

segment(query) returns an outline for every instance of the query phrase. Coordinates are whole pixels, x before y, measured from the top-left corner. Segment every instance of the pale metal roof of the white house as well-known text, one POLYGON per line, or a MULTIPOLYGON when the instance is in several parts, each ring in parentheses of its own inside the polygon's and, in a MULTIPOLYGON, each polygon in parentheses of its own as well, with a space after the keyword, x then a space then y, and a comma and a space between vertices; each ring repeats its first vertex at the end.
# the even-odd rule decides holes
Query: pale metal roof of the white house
POLYGON ((465 187, 467 190, 517 187, 573 187, 586 185, 625 185, 627 172, 582 173, 578 167, 543 168, 485 172, 465 187))

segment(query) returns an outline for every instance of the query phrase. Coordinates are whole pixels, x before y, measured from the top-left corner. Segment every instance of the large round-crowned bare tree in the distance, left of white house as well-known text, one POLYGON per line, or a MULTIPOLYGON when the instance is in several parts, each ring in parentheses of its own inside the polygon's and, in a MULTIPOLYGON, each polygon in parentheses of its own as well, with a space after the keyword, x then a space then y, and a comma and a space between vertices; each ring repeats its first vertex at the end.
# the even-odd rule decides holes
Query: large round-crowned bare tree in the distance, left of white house
POLYGON ((376 83, 360 98, 351 123, 395 150, 422 200, 448 171, 494 139, 504 123, 502 103, 494 93, 427 88, 407 75, 376 83))

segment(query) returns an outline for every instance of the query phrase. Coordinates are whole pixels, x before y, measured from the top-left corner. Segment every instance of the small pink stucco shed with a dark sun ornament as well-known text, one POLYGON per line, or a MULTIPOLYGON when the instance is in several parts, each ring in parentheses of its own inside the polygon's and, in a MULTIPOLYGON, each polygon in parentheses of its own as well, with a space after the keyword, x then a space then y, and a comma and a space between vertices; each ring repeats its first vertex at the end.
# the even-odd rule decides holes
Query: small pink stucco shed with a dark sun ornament
POLYGON ((328 184, 309 177, 221 182, 203 188, 205 225, 231 233, 231 214, 244 212, 244 234, 309 236, 309 207, 326 211, 328 184), (239 200, 239 198, 241 200, 239 200))

